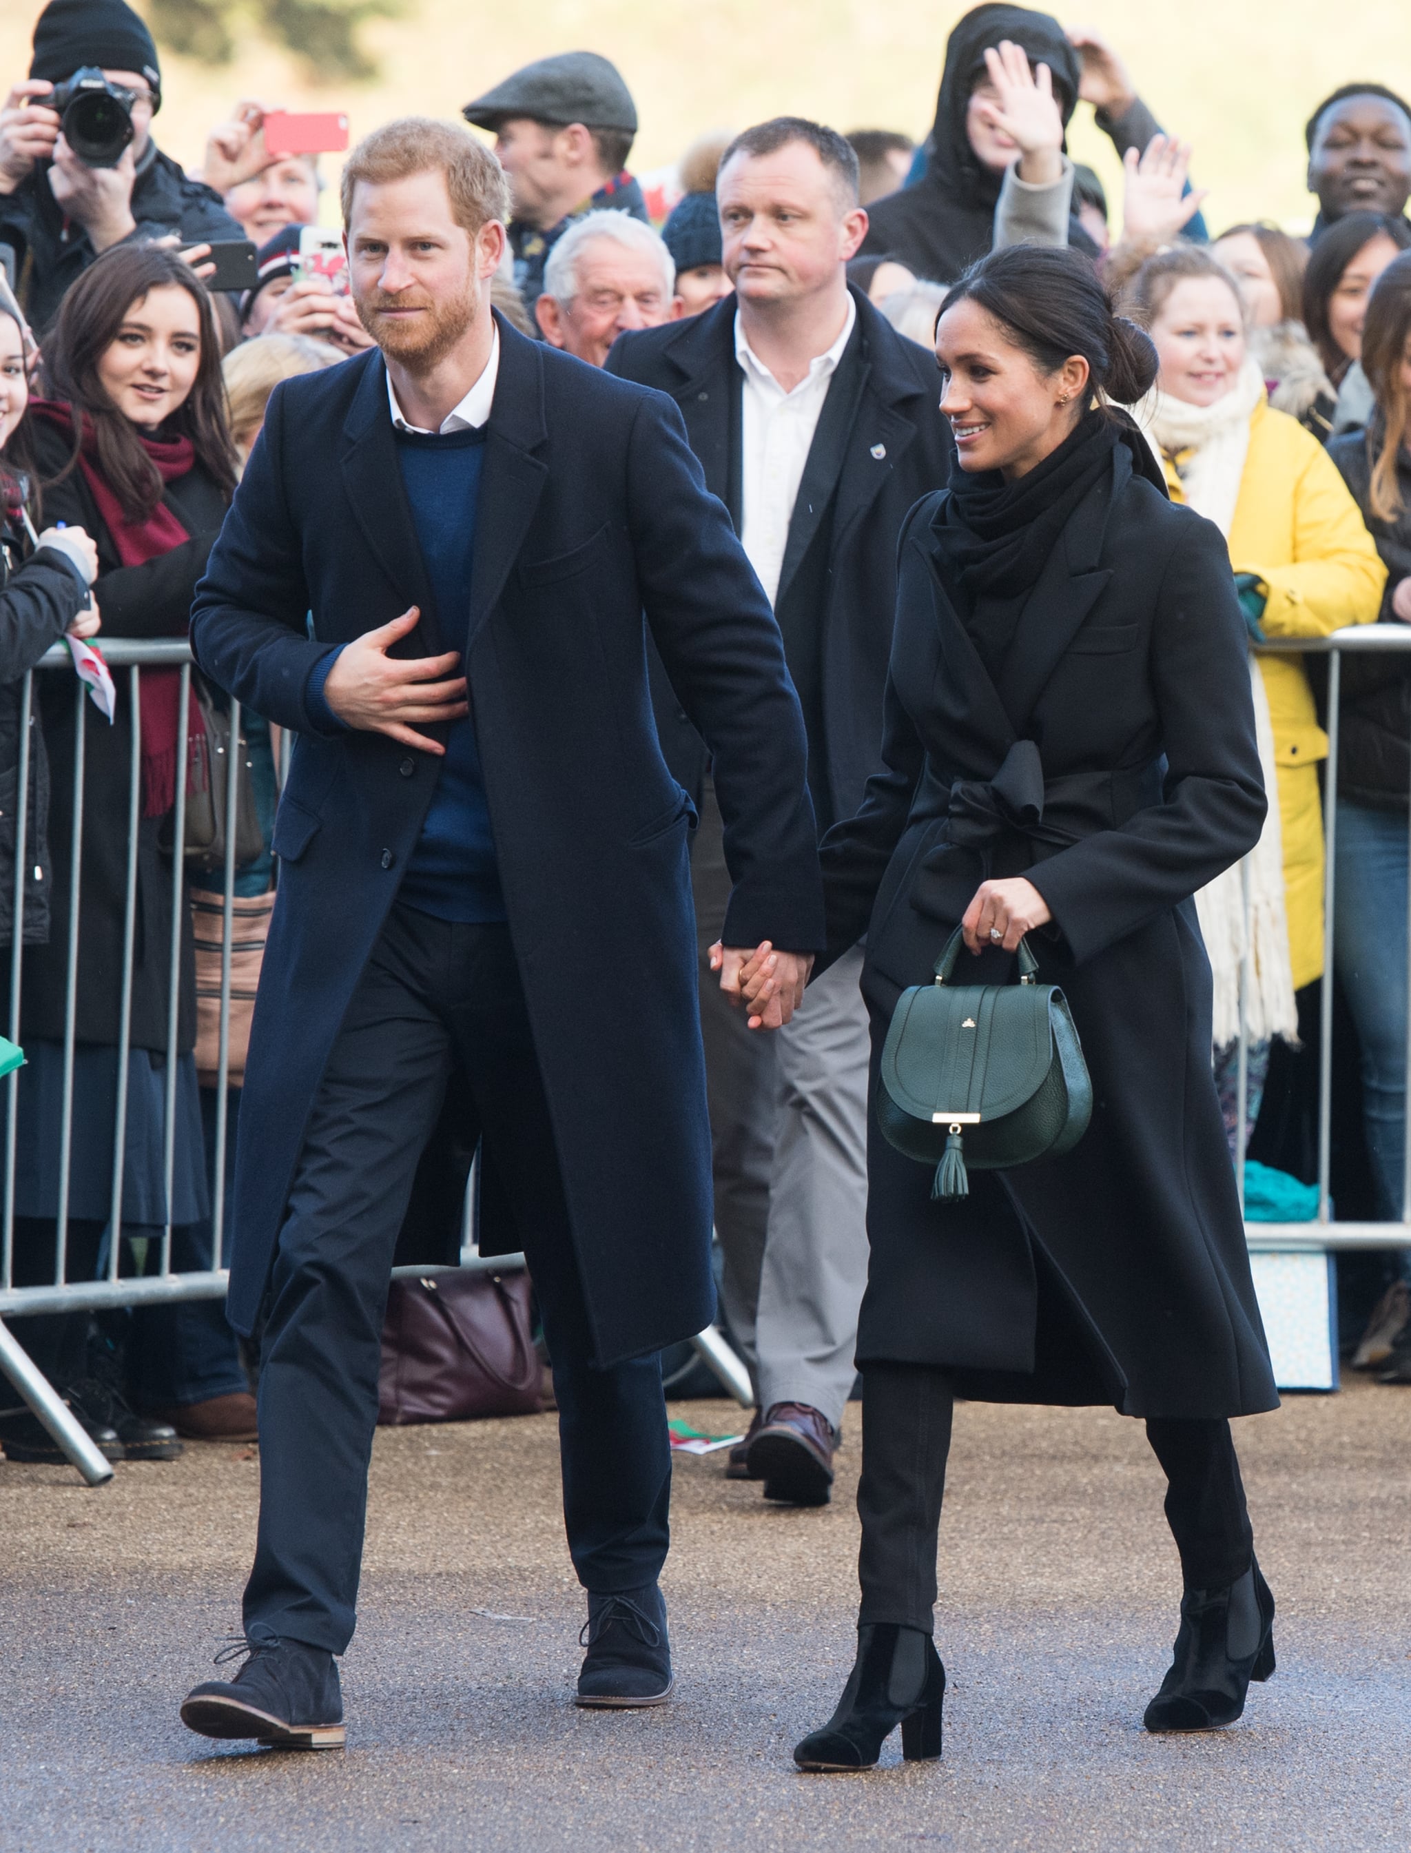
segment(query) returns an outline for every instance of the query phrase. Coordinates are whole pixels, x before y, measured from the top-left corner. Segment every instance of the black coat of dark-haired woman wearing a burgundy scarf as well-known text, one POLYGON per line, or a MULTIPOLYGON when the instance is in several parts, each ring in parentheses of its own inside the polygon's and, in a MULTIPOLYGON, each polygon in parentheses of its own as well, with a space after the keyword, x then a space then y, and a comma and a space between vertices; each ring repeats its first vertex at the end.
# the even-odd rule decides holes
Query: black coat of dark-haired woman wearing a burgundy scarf
MULTIPOLYGON (((69 439, 52 424, 35 426, 35 454, 43 480, 69 461, 69 439)), ((74 469, 44 489, 44 523, 87 528, 98 543, 98 600, 106 637, 181 637, 187 630, 196 580, 220 530, 226 498, 200 467, 167 484, 163 502, 191 539, 157 560, 124 567, 113 536, 98 515, 87 480, 74 469)), ((72 669, 43 669, 35 676, 50 763, 48 836, 50 884, 48 945, 26 952, 20 1023, 30 1036, 59 1038, 65 1021, 69 960, 69 867, 74 834, 74 745, 83 728, 83 862, 78 914, 78 1040, 117 1045, 122 1006, 124 897, 128 880, 128 802, 131 793, 131 671, 115 669, 117 708, 109 725, 72 669)), ((172 856, 163 849, 167 819, 143 817, 137 839, 137 921, 133 941, 131 1047, 167 1051, 172 945, 172 856)), ((196 965, 191 912, 180 910, 181 990, 178 1053, 196 1045, 196 965)))

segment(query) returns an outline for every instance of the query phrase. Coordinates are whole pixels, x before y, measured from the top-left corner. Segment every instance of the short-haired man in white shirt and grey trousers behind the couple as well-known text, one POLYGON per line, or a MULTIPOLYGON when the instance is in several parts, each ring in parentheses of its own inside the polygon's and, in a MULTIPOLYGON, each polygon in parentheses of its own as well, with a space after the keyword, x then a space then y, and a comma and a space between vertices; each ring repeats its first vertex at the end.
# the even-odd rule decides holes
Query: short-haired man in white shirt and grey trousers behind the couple
MULTIPOLYGON (((846 261, 867 213, 857 158, 830 128, 746 130, 717 180, 724 267, 707 313, 622 335, 607 367, 680 404, 706 482, 774 604, 809 730, 820 828, 850 817, 878 763, 896 537, 946 482, 950 432, 933 356, 902 339, 846 261)), ((659 667, 659 665, 657 665, 659 667)), ((717 1008, 709 947, 728 893, 707 749, 657 676, 657 726, 702 793, 696 919, 711 1086, 722 1297, 759 1414, 728 1471, 820 1505, 854 1382, 867 1280, 867 1010, 861 954, 811 986, 776 1038, 717 1008)))

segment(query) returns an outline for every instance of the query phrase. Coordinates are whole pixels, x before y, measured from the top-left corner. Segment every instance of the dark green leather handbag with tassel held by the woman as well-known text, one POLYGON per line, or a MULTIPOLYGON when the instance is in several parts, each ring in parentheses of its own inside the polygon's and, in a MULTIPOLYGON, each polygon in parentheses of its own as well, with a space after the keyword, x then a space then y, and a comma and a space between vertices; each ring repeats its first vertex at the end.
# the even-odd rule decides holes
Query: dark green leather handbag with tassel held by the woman
POLYGON ((952 984, 950 936, 935 984, 902 991, 881 1051, 878 1127, 907 1158, 935 1166, 931 1197, 968 1197, 967 1162, 1004 1171, 1070 1153, 1093 1117, 1083 1047, 1055 984, 1018 941, 1018 984, 952 984))

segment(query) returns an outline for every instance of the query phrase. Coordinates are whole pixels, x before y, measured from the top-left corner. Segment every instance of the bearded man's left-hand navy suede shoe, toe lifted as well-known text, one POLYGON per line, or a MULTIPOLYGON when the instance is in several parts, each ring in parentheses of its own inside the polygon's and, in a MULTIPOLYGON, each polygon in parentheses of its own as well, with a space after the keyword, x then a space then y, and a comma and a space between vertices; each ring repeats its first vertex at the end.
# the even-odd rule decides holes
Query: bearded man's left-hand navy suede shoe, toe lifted
POLYGON ((276 1749, 343 1749, 343 1692, 333 1655, 302 1640, 237 1640, 215 1662, 244 1655, 231 1681, 207 1679, 181 1701, 200 1736, 256 1738, 276 1749))

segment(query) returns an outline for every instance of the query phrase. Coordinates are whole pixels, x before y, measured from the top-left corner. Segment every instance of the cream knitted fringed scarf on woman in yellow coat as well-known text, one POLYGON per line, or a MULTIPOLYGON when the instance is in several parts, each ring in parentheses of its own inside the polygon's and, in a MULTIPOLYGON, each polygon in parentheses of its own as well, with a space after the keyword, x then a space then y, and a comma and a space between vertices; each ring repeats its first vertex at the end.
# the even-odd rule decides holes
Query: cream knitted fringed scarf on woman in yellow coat
MULTIPOLYGON (((1157 461, 1165 463, 1170 458, 1176 463, 1183 500, 1198 515, 1213 521, 1226 539, 1235 523, 1239 485, 1250 450, 1250 417, 1263 397, 1265 382, 1259 367, 1246 359, 1235 384, 1213 406, 1187 406, 1154 387, 1131 408, 1157 461)), ((1217 875, 1196 895, 1200 932, 1215 978, 1217 1049, 1224 1049, 1239 1036, 1239 975, 1246 956, 1250 980, 1244 1017, 1250 1041, 1267 1041, 1270 1036, 1298 1040, 1289 915, 1283 902, 1283 832, 1274 726, 1268 717, 1265 678, 1254 654, 1250 654, 1250 693, 1268 815, 1250 854, 1224 875, 1217 875)))

